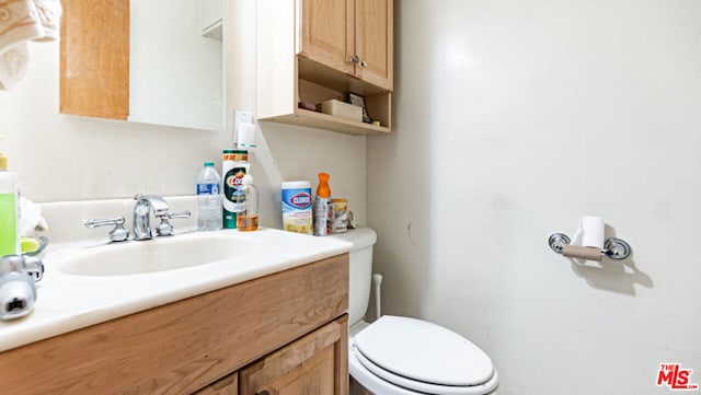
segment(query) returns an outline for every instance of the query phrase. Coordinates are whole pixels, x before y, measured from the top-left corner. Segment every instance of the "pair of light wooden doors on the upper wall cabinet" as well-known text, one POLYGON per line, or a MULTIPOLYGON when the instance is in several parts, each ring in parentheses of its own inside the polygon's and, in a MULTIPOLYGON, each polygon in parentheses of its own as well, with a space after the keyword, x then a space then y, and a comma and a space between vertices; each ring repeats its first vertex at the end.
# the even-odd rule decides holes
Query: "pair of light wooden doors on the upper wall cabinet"
POLYGON ((392 91, 392 0, 298 0, 298 55, 392 91))

